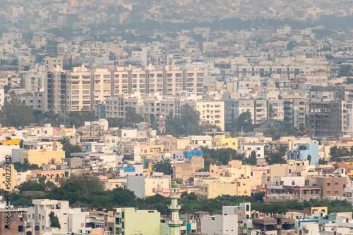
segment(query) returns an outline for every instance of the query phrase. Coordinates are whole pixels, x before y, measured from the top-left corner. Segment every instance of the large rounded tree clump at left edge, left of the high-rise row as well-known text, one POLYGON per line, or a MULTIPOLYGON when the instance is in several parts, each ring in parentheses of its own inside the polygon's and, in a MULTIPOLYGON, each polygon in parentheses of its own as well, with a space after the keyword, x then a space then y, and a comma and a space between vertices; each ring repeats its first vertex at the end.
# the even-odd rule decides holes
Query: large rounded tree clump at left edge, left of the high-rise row
POLYGON ((35 122, 33 109, 17 99, 5 101, 0 110, 0 122, 4 127, 25 127, 35 122))

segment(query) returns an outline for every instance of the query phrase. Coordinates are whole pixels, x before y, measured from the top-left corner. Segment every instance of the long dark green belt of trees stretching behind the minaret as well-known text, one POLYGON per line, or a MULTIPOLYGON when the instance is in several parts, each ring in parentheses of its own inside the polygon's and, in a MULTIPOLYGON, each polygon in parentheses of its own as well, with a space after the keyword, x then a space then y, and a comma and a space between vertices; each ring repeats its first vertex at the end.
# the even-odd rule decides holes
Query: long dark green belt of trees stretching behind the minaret
MULTIPOLYGON (((45 180, 45 179, 40 179, 45 180)), ((19 189, 29 191, 44 191, 44 195, 37 194, 35 196, 26 196, 23 193, 11 193, 11 202, 14 206, 30 206, 32 199, 50 198, 55 200, 68 200, 71 207, 88 207, 88 208, 104 208, 104 210, 112 210, 117 207, 138 207, 139 209, 150 210, 155 209, 162 215, 169 215, 168 205, 171 203, 170 198, 156 194, 145 198, 136 198, 132 191, 117 188, 112 191, 104 190, 104 185, 97 177, 88 177, 86 175, 75 176, 63 179, 59 182, 59 186, 49 185, 38 189, 41 183, 32 182, 30 184, 23 183, 19 189)), ((5 193, 5 192, 3 192, 5 193)), ((322 201, 306 201, 299 203, 298 201, 286 201, 283 203, 263 203, 264 193, 255 193, 253 196, 229 196, 222 195, 217 198, 205 199, 198 198, 195 193, 184 192, 181 194, 179 204, 180 212, 193 213, 196 211, 208 211, 210 215, 222 213, 223 205, 237 205, 243 202, 251 203, 252 210, 258 210, 265 213, 271 212, 287 212, 288 209, 303 210, 305 207, 311 206, 328 206, 328 212, 352 212, 352 205, 347 201, 340 200, 322 200, 322 201)))

